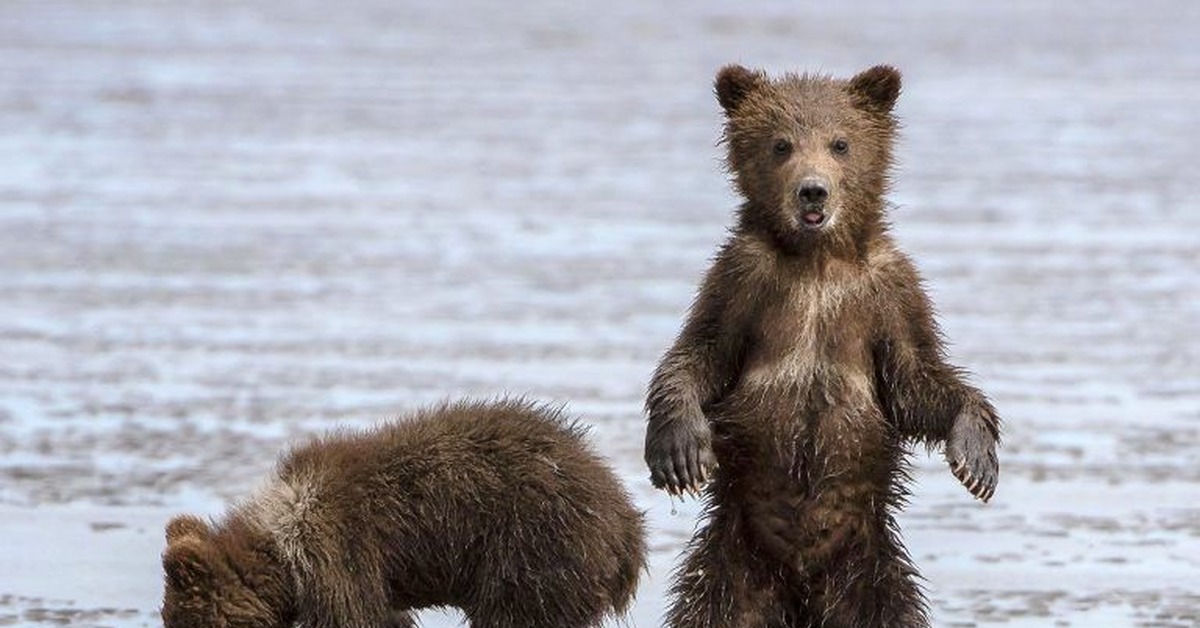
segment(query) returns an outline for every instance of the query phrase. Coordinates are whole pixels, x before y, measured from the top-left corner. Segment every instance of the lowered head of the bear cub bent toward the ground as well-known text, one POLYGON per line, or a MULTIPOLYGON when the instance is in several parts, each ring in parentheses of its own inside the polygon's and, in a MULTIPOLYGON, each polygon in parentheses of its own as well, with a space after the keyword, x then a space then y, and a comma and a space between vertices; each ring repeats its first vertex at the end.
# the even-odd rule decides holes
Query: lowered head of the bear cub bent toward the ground
POLYGON ((166 628, 283 628, 290 626, 287 572, 270 543, 234 522, 215 532, 191 515, 167 524, 162 555, 166 628))

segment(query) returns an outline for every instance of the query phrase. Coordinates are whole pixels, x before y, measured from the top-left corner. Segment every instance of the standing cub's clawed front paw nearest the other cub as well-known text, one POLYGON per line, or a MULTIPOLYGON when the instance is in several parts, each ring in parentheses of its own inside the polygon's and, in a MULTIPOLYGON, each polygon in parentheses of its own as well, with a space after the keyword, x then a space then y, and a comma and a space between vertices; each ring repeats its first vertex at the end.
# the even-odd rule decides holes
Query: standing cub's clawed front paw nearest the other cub
POLYGON ((646 431, 646 463, 650 482, 671 495, 692 495, 716 468, 713 432, 704 419, 652 421, 646 431))

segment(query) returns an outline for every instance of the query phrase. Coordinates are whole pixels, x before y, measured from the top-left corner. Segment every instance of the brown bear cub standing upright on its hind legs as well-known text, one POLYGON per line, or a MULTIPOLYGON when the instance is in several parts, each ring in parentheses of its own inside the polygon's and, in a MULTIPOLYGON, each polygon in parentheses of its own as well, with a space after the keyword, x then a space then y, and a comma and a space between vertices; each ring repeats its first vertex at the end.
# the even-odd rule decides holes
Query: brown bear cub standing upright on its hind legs
POLYGON ((745 201, 646 403, 654 484, 708 482, 670 626, 926 626, 893 518, 906 444, 944 443, 976 497, 996 488, 1000 419, 946 363, 884 222, 899 95, 887 66, 716 77, 745 201))

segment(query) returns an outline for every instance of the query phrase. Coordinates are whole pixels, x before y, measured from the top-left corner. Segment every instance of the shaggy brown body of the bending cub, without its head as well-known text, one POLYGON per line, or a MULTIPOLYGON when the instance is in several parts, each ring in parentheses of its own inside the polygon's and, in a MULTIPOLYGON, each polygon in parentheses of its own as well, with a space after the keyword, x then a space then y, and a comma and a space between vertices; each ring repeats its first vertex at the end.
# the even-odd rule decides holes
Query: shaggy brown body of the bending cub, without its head
POLYGON ((400 605, 511 599, 479 586, 554 574, 554 591, 610 591, 619 610, 644 564, 642 515, 583 430, 524 401, 314 439, 250 509, 312 588, 349 590, 328 574, 358 574, 358 590, 391 582, 400 605))

